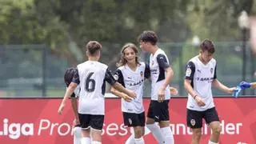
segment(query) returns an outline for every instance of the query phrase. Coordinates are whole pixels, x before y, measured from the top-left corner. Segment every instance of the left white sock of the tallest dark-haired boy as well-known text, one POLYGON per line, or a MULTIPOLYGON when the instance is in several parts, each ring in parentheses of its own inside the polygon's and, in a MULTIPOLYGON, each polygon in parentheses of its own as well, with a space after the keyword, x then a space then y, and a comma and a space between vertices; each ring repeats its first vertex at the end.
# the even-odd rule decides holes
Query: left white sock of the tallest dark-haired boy
POLYGON ((158 143, 164 143, 165 138, 163 137, 160 127, 156 123, 146 125, 146 127, 151 131, 158 143))

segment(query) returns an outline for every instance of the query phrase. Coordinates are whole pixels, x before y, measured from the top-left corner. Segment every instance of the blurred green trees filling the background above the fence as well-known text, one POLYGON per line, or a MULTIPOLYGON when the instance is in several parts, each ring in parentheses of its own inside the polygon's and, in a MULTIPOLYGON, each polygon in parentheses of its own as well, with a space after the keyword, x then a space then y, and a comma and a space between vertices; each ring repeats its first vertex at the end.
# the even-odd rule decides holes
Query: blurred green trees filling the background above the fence
POLYGON ((113 55, 125 42, 136 42, 142 30, 155 30, 161 42, 185 42, 194 34, 214 41, 234 40, 238 14, 241 10, 250 14, 253 2, 0 0, 0 42, 46 43, 76 64, 84 58, 84 42, 96 39, 104 43, 102 61, 113 65, 117 59, 113 55))

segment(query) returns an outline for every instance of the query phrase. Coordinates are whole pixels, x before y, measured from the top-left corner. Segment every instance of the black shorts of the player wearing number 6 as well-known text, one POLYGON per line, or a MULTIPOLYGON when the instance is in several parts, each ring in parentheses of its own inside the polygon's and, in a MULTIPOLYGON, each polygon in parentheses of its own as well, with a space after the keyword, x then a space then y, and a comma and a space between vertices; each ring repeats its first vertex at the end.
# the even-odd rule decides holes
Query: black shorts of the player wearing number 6
POLYGON ((82 129, 89 129, 90 127, 95 130, 102 130, 104 115, 93 114, 78 114, 80 126, 82 129))

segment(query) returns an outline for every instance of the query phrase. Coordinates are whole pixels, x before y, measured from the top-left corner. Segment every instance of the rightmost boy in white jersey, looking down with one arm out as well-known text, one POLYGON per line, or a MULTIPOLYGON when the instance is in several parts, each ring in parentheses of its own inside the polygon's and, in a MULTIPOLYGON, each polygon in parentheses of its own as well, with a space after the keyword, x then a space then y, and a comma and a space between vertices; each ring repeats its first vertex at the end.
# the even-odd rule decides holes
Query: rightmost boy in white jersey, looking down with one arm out
POLYGON ((235 87, 224 86, 217 79, 216 60, 212 58, 215 48, 210 40, 204 40, 200 52, 186 64, 184 86, 189 93, 187 101, 187 126, 192 129, 192 144, 199 144, 202 135, 202 118, 209 124, 212 134, 209 144, 218 143, 221 126, 214 106, 211 86, 231 94, 235 87))

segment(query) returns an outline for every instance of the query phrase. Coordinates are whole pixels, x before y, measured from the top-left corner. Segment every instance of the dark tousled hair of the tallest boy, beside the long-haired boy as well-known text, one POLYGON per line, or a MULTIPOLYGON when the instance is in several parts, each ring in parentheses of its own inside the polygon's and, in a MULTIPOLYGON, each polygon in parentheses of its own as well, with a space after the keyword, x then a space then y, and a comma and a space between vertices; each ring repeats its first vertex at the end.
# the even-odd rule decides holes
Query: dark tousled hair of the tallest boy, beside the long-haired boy
POLYGON ((146 30, 138 36, 138 42, 150 42, 152 45, 156 45, 158 42, 158 36, 154 31, 146 30))

